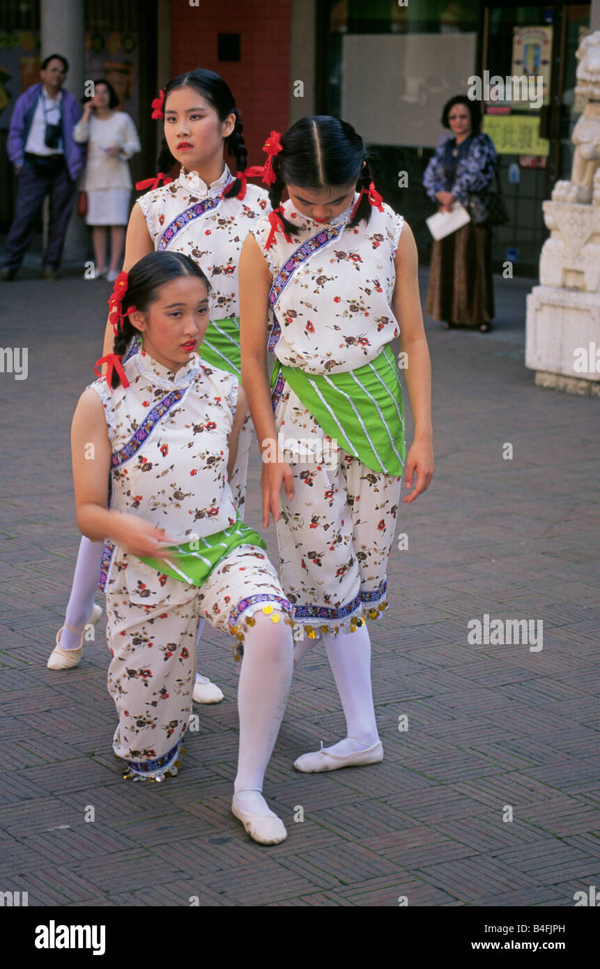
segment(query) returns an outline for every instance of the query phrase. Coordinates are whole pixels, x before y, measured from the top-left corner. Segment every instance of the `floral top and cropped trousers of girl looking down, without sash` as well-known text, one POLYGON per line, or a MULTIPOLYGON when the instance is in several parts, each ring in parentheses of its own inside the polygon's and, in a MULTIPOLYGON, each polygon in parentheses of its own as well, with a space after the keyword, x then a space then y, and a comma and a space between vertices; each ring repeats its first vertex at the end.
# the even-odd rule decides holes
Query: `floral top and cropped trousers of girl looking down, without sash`
MULTIPOLYGON (((283 209, 298 234, 275 234, 268 266, 271 352, 308 373, 358 369, 398 335, 392 308, 395 253, 404 220, 384 203, 368 225, 346 225, 348 209, 322 225, 283 209), (308 241, 312 240, 312 241, 308 241)), ((251 230, 264 250, 268 220, 251 230)), ((280 373, 271 394, 275 429, 294 473, 292 500, 282 491, 277 542, 281 581, 295 609, 295 637, 347 631, 383 608, 400 479, 371 471, 340 450, 280 373), (294 442, 302 441, 300 455, 294 442)))

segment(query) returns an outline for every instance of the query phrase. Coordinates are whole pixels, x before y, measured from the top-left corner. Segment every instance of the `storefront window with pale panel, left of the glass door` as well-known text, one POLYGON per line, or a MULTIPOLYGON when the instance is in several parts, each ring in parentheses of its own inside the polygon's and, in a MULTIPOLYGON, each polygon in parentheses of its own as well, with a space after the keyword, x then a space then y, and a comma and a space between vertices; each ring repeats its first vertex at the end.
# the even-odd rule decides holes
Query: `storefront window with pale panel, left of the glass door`
POLYGON ((442 109, 475 70, 477 0, 324 0, 324 113, 349 121, 373 150, 375 181, 425 256, 434 211, 421 180, 445 129, 442 109))

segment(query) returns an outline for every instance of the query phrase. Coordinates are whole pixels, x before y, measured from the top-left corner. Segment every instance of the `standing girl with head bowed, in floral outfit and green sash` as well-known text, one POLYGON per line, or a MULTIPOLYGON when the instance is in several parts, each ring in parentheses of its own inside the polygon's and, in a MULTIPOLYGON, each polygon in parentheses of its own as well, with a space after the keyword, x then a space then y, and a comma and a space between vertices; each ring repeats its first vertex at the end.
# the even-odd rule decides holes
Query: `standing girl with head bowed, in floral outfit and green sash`
POLYGON ((430 364, 415 240, 375 190, 363 139, 317 115, 280 141, 271 132, 268 148, 273 211, 239 265, 242 381, 263 453, 263 524, 272 513, 295 607, 295 659, 321 639, 346 719, 343 739, 295 762, 312 773, 383 760, 364 619, 386 609, 404 469, 392 341, 408 362, 415 426, 404 502, 433 473, 430 364))

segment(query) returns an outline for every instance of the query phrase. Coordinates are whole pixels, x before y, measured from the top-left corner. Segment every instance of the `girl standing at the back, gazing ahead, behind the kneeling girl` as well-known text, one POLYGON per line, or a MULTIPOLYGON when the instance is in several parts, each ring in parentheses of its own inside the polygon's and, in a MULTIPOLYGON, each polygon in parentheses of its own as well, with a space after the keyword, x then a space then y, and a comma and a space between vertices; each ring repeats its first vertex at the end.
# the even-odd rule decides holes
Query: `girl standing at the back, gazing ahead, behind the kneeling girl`
MULTIPOLYGON (((154 187, 134 205, 127 229, 124 268, 155 249, 182 252, 201 266, 210 281, 209 325, 202 345, 205 362, 239 377, 237 262, 241 245, 254 222, 268 211, 264 189, 247 184, 247 153, 239 109, 228 84, 213 71, 189 71, 173 78, 153 102, 153 117, 163 119, 165 137, 154 187), (234 176, 225 151, 235 159, 234 176), (166 178, 179 163, 179 176, 166 178), (161 181, 169 184, 160 185, 161 181)), ((143 183, 141 183, 143 184, 143 183)), ((112 349, 108 324, 104 353, 112 349)), ((238 406, 242 406, 240 389, 238 406)), ((230 485, 243 516, 252 424, 246 410, 230 485)), ((65 623, 48 660, 52 670, 79 664, 85 625, 98 621, 94 606, 102 548, 82 538, 65 623)), ((200 631, 202 631, 200 624, 200 631)), ((200 635, 200 633, 199 633, 200 635)), ((218 703, 219 687, 197 674, 194 700, 218 703)))

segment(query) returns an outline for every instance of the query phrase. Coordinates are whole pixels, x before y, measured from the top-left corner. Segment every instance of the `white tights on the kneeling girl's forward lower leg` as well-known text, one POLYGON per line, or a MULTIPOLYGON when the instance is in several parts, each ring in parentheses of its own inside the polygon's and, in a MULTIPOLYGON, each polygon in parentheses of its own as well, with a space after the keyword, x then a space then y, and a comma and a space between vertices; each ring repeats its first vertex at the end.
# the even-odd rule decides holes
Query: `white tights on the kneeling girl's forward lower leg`
POLYGON ((279 622, 274 623, 264 612, 254 613, 256 624, 245 634, 237 687, 239 752, 234 791, 242 809, 255 815, 271 813, 261 795, 263 779, 292 682, 292 630, 284 615, 278 614, 279 622))

